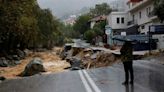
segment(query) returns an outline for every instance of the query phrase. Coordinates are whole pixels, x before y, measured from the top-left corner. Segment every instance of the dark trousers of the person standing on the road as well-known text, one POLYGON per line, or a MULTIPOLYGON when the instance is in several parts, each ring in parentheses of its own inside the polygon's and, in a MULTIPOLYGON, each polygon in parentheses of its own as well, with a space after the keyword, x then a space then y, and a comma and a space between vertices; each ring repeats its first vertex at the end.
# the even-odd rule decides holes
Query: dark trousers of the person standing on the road
POLYGON ((124 70, 125 70, 125 82, 129 81, 129 75, 131 78, 131 82, 134 80, 134 75, 133 75, 133 62, 132 61, 126 61, 123 62, 124 64, 124 70))

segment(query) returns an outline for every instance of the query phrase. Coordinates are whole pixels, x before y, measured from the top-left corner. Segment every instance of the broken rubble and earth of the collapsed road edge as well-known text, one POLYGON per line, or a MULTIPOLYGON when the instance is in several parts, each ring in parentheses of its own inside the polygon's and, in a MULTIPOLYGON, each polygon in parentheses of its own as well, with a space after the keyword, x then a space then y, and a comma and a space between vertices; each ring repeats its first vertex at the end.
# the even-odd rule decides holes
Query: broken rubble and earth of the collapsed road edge
POLYGON ((77 63, 78 65, 76 65, 76 69, 78 70, 83 68, 89 69, 105 67, 112 65, 116 61, 116 58, 112 53, 108 53, 99 49, 74 47, 65 53, 67 53, 65 59, 71 65, 70 69, 74 68, 74 65, 76 65, 77 63), (78 60, 75 60, 75 58, 78 58, 78 60), (76 61, 81 62, 79 63, 76 61))

